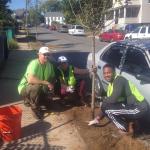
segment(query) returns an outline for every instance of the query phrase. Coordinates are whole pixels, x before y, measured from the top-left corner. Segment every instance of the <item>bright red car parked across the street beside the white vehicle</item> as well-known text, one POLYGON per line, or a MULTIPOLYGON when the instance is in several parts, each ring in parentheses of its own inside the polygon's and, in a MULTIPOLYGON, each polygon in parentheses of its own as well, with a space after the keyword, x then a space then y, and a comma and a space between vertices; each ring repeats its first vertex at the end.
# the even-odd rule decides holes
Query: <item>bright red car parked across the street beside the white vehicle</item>
POLYGON ((123 30, 108 30, 99 35, 100 41, 112 42, 123 40, 125 36, 125 32, 123 30))

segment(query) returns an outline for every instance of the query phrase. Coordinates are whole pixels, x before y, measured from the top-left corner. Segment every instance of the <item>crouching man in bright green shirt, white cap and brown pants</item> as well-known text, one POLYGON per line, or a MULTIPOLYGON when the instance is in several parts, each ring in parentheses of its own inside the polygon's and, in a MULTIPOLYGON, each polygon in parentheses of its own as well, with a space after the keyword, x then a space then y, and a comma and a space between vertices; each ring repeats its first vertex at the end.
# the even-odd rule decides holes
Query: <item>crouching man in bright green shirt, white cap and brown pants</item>
POLYGON ((48 47, 41 47, 38 58, 29 63, 18 85, 18 92, 24 98, 24 103, 31 106, 37 119, 43 118, 40 103, 47 100, 48 92, 54 88, 55 73, 53 65, 48 62, 49 54, 48 47))

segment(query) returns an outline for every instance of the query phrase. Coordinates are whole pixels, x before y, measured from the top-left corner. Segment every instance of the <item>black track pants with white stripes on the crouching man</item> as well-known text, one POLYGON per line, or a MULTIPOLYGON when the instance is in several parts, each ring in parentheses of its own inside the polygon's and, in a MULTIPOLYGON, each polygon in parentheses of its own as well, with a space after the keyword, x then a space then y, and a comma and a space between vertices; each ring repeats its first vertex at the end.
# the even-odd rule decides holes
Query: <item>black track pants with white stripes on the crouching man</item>
POLYGON ((103 103, 101 110, 115 125, 117 128, 127 131, 127 120, 140 120, 146 117, 148 112, 148 103, 143 101, 137 105, 125 105, 122 103, 109 104, 103 103))

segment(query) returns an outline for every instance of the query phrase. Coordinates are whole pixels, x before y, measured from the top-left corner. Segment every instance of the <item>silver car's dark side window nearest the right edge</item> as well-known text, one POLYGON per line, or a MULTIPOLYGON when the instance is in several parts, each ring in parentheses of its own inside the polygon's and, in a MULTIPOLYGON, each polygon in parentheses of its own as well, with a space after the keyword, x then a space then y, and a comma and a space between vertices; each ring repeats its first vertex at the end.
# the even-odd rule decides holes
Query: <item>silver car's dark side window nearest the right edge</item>
POLYGON ((129 48, 123 70, 131 74, 148 72, 149 67, 144 54, 138 49, 129 48))

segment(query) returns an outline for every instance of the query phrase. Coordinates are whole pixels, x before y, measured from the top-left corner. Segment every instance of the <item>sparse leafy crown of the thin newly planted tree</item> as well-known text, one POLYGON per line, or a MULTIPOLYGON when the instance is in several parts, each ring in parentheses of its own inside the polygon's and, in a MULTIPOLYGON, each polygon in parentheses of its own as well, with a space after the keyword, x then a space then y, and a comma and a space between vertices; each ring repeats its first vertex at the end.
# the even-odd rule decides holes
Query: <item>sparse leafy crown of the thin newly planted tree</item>
POLYGON ((62 0, 66 22, 80 22, 89 29, 103 27, 104 15, 111 7, 112 0, 62 0))

